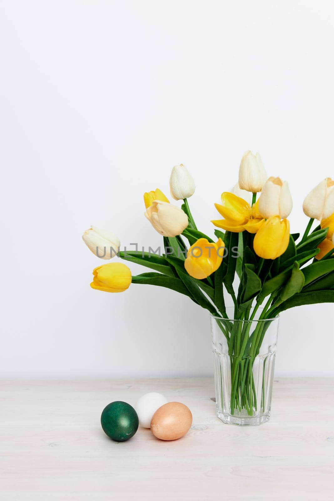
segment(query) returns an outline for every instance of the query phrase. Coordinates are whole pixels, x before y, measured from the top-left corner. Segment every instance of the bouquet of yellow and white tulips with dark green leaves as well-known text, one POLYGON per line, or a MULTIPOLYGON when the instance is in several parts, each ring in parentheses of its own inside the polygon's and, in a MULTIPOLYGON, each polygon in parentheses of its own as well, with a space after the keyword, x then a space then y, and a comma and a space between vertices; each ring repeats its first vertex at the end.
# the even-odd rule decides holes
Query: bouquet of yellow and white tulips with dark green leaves
POLYGON ((94 226, 85 231, 85 243, 99 258, 117 255, 152 270, 132 276, 123 263, 105 264, 93 271, 91 287, 123 292, 131 283, 148 284, 187 296, 222 319, 219 327, 231 360, 237 361, 258 350, 263 333, 248 330, 243 342, 237 341, 226 314, 225 292, 232 298, 234 319, 242 321, 253 320, 261 305, 259 319, 265 320, 295 306, 334 302, 334 181, 324 179, 304 199, 303 211, 310 219, 301 237, 290 234, 288 183, 268 178, 258 153, 243 155, 238 183, 215 204, 222 216, 211 221, 219 228, 214 230, 216 241, 197 229, 188 204, 194 191, 194 180, 181 164, 170 176, 171 196, 182 200, 181 207, 159 189, 144 194, 145 217, 163 236, 162 254, 151 247, 147 252, 122 251, 110 231, 94 226), (312 229, 314 219, 319 224, 312 229))

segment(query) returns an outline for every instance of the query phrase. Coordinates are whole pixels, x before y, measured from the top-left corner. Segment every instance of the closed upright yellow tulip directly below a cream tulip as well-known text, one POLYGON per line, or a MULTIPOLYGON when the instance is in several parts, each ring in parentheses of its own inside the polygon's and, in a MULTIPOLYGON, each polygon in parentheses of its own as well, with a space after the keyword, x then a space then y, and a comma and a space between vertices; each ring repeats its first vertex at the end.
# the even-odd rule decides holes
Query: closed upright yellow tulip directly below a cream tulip
POLYGON ((264 259, 276 259, 287 249, 290 239, 290 223, 287 219, 271 216, 267 219, 254 237, 254 250, 257 256, 264 259))

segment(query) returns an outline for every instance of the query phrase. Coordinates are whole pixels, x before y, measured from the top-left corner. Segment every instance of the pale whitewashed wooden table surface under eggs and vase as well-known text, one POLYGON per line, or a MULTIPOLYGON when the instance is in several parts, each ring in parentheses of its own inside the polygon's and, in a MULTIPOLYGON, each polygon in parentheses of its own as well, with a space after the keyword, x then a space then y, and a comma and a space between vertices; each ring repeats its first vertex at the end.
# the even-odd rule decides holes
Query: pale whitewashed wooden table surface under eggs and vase
POLYGON ((211 378, 2 382, 0 498, 334 499, 334 379, 276 379, 259 427, 223 424, 212 396, 211 378), (188 405, 188 434, 110 440, 105 405, 149 391, 188 405))

